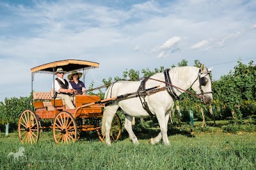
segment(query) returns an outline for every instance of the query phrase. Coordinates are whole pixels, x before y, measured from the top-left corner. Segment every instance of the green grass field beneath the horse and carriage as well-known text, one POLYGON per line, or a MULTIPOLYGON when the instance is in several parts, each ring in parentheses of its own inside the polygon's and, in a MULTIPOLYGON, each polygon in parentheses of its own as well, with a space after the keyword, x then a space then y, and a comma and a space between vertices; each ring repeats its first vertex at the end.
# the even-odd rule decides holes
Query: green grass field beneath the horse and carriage
MULTIPOLYGON (((44 132, 36 144, 21 144, 17 132, 0 137, 0 169, 256 169, 256 133, 191 132, 169 135, 170 146, 149 145, 139 135, 107 146, 95 137, 55 144, 44 132), (18 160, 13 153, 24 152, 18 160), (8 156, 9 155, 9 156, 8 156)), ((92 135, 92 134, 91 134, 92 135)))

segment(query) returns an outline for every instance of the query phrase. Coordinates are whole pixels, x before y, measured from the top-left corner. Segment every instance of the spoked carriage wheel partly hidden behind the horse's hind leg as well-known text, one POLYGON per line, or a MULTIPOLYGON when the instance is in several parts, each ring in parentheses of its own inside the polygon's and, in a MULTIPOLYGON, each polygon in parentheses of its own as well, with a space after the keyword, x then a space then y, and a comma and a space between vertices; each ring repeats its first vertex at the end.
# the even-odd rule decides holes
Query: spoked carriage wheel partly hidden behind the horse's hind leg
MULTIPOLYGON (((105 143, 104 139, 105 139, 105 135, 102 135, 101 130, 97 129, 97 133, 99 135, 100 141, 102 141, 103 143, 105 143)), ((116 142, 122 132, 122 125, 121 125, 121 121, 120 118, 118 116, 118 114, 115 114, 112 123, 111 123, 111 129, 110 129, 110 139, 113 142, 116 142)))

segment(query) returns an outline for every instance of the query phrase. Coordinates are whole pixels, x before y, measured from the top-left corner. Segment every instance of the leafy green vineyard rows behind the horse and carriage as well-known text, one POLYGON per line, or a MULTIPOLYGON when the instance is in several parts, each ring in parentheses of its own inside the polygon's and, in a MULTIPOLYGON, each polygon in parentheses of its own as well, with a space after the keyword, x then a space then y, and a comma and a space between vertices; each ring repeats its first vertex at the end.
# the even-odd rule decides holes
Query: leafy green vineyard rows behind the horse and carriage
MULTIPOLYGON (((200 68, 201 65, 200 61, 194 61, 194 66, 200 68)), ((177 66, 188 66, 188 61, 182 59, 177 66)), ((175 65, 171 66, 171 68, 173 67, 175 65)), ((139 81, 140 77, 150 77, 155 73, 164 72, 164 70, 164 66, 154 68, 154 70, 145 68, 141 72, 134 69, 126 69, 122 77, 109 77, 108 79, 103 79, 102 82, 107 85, 124 79, 139 81)), ((213 101, 211 105, 202 105, 198 98, 192 97, 188 93, 183 93, 180 96, 180 100, 175 102, 173 112, 177 112, 177 108, 179 108, 182 121, 189 120, 189 112, 191 111, 194 112, 194 118, 202 120, 202 110, 206 115, 210 115, 212 111, 216 120, 252 118, 255 116, 256 111, 255 78, 256 67, 253 65, 253 61, 244 64, 239 60, 237 65, 234 66, 234 71, 230 70, 227 75, 222 75, 219 80, 212 80, 213 101)), ((93 89, 93 82, 89 88, 93 89)), ((195 93, 192 89, 188 89, 188 91, 195 93)), ((90 92, 90 94, 93 94, 93 92, 90 92)), ((98 95, 104 97, 104 93, 101 90, 98 95)), ((4 102, 0 102, 0 128, 3 129, 6 123, 10 123, 12 127, 16 128, 20 114, 26 109, 33 110, 31 95, 29 97, 5 98, 4 102)), ((206 117, 211 118, 211 116, 206 117)))

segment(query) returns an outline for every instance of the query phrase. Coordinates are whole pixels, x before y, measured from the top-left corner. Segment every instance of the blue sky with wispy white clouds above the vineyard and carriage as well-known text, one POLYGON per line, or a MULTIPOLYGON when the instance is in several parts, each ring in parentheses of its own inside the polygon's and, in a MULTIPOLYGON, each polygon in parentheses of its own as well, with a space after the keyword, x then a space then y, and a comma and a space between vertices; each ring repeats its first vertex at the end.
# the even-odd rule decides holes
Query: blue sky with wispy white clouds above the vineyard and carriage
MULTIPOLYGON (((93 81, 125 69, 198 59, 220 79, 256 58, 256 1, 0 1, 0 101, 31 91, 30 68, 62 59, 100 63, 93 81)), ((52 76, 36 74, 35 91, 52 76)))

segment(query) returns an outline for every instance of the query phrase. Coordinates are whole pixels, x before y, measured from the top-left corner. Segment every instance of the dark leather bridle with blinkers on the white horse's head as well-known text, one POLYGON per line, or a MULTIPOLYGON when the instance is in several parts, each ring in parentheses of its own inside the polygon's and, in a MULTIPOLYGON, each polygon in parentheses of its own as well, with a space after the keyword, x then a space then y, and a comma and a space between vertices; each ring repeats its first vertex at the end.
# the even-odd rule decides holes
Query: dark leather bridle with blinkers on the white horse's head
MULTIPOLYGON (((212 93, 212 91, 207 91, 207 92, 204 92, 204 90, 202 89, 202 86, 206 86, 207 82, 208 82, 208 79, 205 77, 206 75, 209 75, 211 72, 208 71, 208 69, 206 68, 207 72, 205 73, 202 73, 202 70, 199 69, 199 72, 198 72, 198 76, 196 78, 196 80, 192 83, 191 86, 193 86, 193 84, 198 80, 199 81, 199 88, 200 88, 200 91, 201 93, 200 94, 196 94, 198 96, 200 96, 200 99, 201 99, 201 102, 205 102, 205 97, 204 97, 204 94, 209 94, 209 93, 212 93), (205 74, 204 77, 201 77, 202 74, 205 74)), ((211 77, 210 77, 210 81, 211 81, 211 77)))

